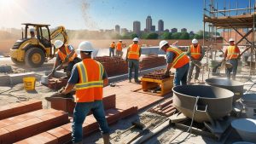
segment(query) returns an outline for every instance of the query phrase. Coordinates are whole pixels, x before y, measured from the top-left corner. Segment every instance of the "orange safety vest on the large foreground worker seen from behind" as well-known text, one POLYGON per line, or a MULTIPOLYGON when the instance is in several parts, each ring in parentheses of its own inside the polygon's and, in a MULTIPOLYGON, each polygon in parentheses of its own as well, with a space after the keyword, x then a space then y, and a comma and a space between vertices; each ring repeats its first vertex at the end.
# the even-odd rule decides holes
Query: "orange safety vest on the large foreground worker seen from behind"
POLYGON ((96 60, 85 59, 76 66, 79 70, 79 83, 75 85, 75 102, 102 100, 104 72, 102 64, 96 60))

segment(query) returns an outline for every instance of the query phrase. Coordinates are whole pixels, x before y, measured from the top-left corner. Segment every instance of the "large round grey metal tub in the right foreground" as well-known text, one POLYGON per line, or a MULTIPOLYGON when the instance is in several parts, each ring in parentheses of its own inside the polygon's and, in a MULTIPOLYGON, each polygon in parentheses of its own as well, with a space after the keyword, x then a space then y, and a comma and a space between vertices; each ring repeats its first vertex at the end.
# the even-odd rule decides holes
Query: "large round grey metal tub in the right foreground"
POLYGON ((227 89, 207 85, 182 85, 172 88, 173 105, 186 117, 196 122, 210 121, 223 118, 232 110, 234 93, 227 89), (196 102, 196 97, 198 101, 196 102))

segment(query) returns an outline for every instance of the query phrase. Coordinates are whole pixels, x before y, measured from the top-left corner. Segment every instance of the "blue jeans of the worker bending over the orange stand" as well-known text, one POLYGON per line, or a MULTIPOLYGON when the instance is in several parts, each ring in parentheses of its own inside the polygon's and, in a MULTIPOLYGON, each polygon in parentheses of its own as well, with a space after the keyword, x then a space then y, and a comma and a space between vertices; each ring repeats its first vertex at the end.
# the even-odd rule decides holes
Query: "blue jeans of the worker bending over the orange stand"
POLYGON ((174 76, 174 86, 187 85, 187 76, 189 72, 189 63, 176 69, 174 76))

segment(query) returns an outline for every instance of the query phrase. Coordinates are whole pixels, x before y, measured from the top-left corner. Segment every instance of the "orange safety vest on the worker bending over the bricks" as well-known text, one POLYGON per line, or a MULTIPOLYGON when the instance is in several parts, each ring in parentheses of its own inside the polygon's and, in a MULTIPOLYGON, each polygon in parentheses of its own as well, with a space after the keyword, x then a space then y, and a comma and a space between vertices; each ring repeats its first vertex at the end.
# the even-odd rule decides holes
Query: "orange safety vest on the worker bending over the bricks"
POLYGON ((181 49, 177 48, 168 48, 166 52, 172 52, 175 54, 174 59, 172 60, 172 67, 174 68, 180 68, 187 63, 189 63, 189 58, 181 49))

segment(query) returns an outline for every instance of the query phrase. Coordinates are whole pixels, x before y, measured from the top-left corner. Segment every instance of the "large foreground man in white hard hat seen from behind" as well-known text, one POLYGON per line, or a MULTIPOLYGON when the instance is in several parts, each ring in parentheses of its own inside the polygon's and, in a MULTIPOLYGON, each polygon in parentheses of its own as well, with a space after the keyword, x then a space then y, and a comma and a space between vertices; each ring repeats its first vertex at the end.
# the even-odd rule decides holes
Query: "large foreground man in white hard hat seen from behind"
POLYGON ((82 125, 86 115, 92 112, 102 130, 104 144, 107 144, 109 143, 109 128, 102 103, 102 90, 103 86, 108 85, 108 76, 102 64, 91 59, 95 49, 90 42, 80 43, 78 50, 82 61, 73 66, 67 86, 61 92, 61 94, 67 95, 74 87, 76 88, 72 141, 73 143, 83 143, 82 125))

